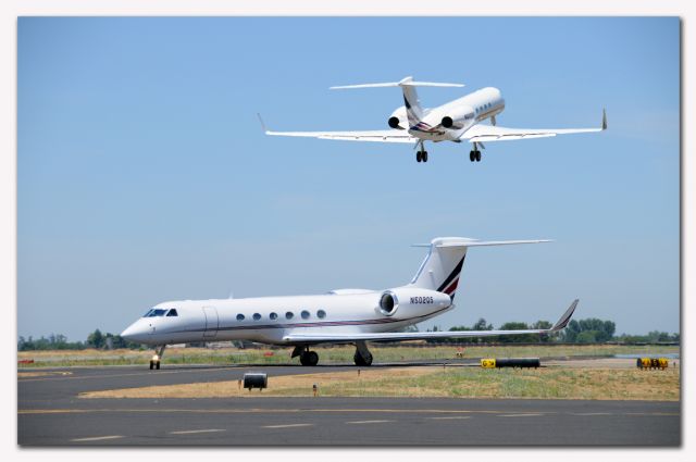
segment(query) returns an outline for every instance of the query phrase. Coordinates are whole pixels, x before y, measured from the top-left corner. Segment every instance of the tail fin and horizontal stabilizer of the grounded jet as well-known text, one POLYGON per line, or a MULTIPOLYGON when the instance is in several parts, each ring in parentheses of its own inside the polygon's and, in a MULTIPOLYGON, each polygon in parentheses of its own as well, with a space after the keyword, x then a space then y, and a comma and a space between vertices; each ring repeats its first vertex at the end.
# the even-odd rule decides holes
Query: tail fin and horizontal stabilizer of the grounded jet
POLYGON ((437 237, 431 244, 417 245, 430 247, 430 251, 421 263, 411 285, 424 289, 447 294, 452 300, 459 285, 459 275, 464 265, 467 249, 478 246, 506 246, 512 244, 549 242, 537 240, 475 240, 465 237, 437 237))

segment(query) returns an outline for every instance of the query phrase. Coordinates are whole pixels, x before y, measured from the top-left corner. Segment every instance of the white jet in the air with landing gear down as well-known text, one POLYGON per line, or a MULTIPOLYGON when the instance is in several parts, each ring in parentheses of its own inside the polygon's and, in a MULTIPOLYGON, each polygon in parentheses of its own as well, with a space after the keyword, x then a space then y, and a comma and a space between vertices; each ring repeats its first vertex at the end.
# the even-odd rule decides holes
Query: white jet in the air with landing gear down
MULTIPOLYGON (((261 121, 261 125, 266 135, 273 136, 299 136, 345 141, 410 142, 418 148, 415 153, 415 160, 418 162, 427 162, 425 141, 469 141, 473 143, 473 149, 469 152, 469 160, 471 160, 471 162, 480 162, 481 151, 478 147, 485 148, 483 145, 484 141, 545 138, 556 135, 601 132, 607 129, 606 111, 602 111, 601 127, 599 128, 499 127, 496 125, 496 116, 505 109, 505 100, 502 99, 500 90, 493 87, 482 88, 473 93, 469 93, 433 109, 421 108, 415 87, 463 87, 463 85, 415 82, 413 77, 406 77, 401 82, 346 85, 331 87, 331 89, 373 87, 400 87, 403 91, 405 105, 397 108, 387 121, 391 129, 363 132, 273 132, 265 127, 263 121, 261 121), (486 118, 490 120, 490 125, 481 125, 481 122, 486 118)), ((260 115, 259 120, 261 120, 260 115)))

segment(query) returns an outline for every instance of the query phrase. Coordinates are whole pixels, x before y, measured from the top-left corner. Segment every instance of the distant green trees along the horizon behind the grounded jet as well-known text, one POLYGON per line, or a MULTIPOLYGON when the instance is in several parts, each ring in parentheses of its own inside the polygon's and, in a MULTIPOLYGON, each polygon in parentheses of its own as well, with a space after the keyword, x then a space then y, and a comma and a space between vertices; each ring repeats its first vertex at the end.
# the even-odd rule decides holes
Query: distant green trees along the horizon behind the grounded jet
MULTIPOLYGON (((537 321, 533 324, 522 322, 508 322, 502 324, 500 330, 520 330, 520 329, 548 329, 552 324, 548 321, 537 321)), ((568 323, 568 326, 560 333, 551 335, 500 335, 497 337, 471 337, 471 338, 457 338, 457 339, 428 339, 428 344, 484 344, 494 339, 500 344, 535 344, 535 342, 563 342, 563 344, 604 344, 606 341, 620 341, 625 344, 655 344, 655 342, 679 342, 680 334, 668 334, 666 332, 652 330, 647 335, 629 335, 621 334, 614 336, 616 324, 612 321, 602 321, 596 317, 588 317, 586 320, 575 321, 572 320, 568 323)), ((414 327, 412 327, 415 330, 414 327)), ((438 327, 433 329, 434 332, 442 330, 438 327)), ((480 319, 473 326, 453 326, 449 328, 450 332, 458 330, 493 330, 493 324, 488 324, 485 319, 480 319)), ((123 339, 120 335, 110 333, 102 334, 101 330, 96 329, 87 336, 85 341, 69 341, 67 337, 61 334, 51 334, 48 337, 41 336, 38 339, 33 337, 24 338, 20 336, 17 341, 18 351, 32 351, 32 350, 84 350, 87 348, 94 348, 98 350, 107 349, 141 349, 142 345, 135 344, 123 339)))

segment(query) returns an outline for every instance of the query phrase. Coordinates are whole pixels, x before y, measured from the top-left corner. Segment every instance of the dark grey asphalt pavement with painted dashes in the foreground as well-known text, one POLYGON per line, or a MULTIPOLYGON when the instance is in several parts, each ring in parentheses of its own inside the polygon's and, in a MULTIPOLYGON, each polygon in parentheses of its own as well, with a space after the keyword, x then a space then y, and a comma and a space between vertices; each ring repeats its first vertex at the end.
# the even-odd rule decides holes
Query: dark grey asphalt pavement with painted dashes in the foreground
POLYGON ((22 446, 678 446, 681 441, 679 402, 77 398, 82 391, 235 380, 251 371, 288 375, 348 369, 355 366, 27 370, 48 374, 18 378, 17 442, 22 446))

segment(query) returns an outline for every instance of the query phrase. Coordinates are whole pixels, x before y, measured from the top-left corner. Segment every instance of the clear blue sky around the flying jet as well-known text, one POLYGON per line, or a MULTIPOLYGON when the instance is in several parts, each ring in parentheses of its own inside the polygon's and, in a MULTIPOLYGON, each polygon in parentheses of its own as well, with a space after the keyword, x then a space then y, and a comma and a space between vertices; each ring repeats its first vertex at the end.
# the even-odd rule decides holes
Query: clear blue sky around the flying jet
POLYGON ((458 308, 679 330, 678 18, 27 18, 17 50, 17 334, 120 333, 164 300, 403 284, 435 236, 473 249, 458 308), (502 91, 501 126, 599 135, 431 145, 265 137, 385 128, 418 79, 437 105, 502 91))

